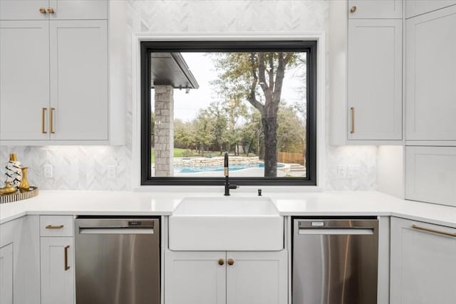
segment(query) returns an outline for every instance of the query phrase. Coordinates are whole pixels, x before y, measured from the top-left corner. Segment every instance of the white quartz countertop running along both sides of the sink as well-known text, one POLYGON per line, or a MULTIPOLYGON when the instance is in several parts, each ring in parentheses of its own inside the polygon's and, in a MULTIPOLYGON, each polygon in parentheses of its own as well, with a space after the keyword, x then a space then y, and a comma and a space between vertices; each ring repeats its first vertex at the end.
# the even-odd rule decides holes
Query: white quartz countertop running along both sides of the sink
MULTIPOLYGON (((172 215, 184 197, 212 192, 41 191, 32 199, 0 204, 0 224, 26 214, 172 215)), ((254 197, 233 193, 232 197, 254 197)), ((456 227, 456 207, 405 201, 380 192, 272 192, 282 216, 399 216, 456 227)))

